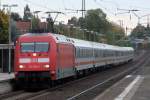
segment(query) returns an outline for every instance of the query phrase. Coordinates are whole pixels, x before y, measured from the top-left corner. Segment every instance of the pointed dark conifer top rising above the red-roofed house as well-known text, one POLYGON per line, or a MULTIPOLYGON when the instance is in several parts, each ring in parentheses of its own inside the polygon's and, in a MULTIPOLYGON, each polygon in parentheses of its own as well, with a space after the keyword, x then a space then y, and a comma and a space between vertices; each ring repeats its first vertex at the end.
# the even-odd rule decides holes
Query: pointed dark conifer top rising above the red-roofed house
POLYGON ((24 16, 23 16, 23 20, 24 21, 30 21, 32 18, 32 14, 30 12, 30 8, 28 5, 25 6, 24 8, 24 16))

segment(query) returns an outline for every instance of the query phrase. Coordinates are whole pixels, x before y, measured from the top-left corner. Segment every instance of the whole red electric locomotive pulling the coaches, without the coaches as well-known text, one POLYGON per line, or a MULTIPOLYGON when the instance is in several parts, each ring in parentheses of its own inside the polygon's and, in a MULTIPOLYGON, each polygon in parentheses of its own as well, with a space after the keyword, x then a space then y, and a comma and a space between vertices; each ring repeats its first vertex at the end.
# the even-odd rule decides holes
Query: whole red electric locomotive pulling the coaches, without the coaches
POLYGON ((49 33, 20 36, 15 48, 16 80, 58 80, 74 75, 74 45, 63 38, 49 33))

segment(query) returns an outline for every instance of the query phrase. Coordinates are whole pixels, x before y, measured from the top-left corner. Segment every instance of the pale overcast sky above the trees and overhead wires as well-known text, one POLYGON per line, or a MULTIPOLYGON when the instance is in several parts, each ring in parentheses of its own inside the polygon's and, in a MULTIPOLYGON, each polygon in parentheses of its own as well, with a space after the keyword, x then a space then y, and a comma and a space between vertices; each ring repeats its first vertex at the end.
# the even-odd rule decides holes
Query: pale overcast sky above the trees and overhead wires
MULTIPOLYGON (((86 10, 101 8, 106 14, 109 21, 116 22, 120 25, 120 20, 122 20, 122 26, 128 28, 128 33, 130 29, 133 29, 138 23, 138 17, 150 14, 150 0, 85 0, 86 10), (126 10, 139 10, 135 14, 133 12, 127 13, 126 10)), ((41 18, 46 17, 47 11, 61 11, 65 15, 59 15, 56 19, 67 23, 67 20, 72 16, 80 17, 81 12, 71 13, 66 9, 80 10, 82 6, 82 0, 0 0, 1 5, 4 4, 17 4, 18 7, 12 8, 11 11, 19 13, 23 16, 24 7, 26 4, 29 5, 31 12, 42 11, 39 13, 41 18)), ((53 17, 56 15, 53 14, 53 17)), ((44 19, 43 19, 44 20, 44 19)), ((140 22, 146 25, 148 17, 141 17, 140 22)))

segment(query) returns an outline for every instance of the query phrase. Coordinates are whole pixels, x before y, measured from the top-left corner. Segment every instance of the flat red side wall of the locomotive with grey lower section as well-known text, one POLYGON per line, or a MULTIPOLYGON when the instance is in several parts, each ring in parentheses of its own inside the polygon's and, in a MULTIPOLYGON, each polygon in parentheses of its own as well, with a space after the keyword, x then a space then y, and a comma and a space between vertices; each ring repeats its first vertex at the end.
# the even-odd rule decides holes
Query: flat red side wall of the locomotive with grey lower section
POLYGON ((58 44, 59 78, 74 75, 74 47, 72 44, 58 44))

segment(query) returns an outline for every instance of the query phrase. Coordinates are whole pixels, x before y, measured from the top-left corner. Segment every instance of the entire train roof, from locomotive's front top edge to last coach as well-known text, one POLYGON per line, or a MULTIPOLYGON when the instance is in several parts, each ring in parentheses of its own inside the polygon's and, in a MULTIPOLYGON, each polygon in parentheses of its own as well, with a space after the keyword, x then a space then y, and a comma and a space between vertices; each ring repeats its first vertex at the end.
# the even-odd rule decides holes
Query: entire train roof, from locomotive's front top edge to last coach
POLYGON ((119 47, 114 45, 108 45, 104 43, 97 43, 97 42, 91 42, 91 41, 85 41, 75 38, 69 38, 64 35, 60 34, 52 34, 52 33, 40 33, 40 34, 33 34, 33 33, 27 33, 25 35, 22 35, 21 37, 26 36, 52 36, 56 43, 72 43, 75 47, 79 48, 97 48, 97 49, 106 49, 106 50, 117 50, 117 51, 133 51, 134 49, 132 47, 119 47))

